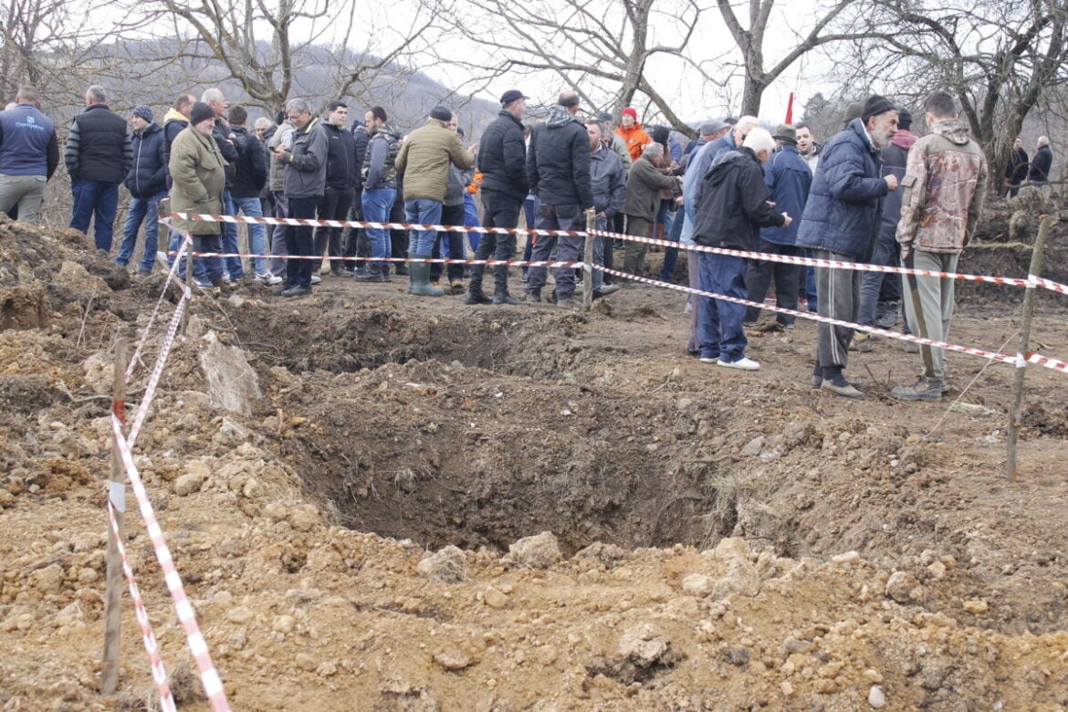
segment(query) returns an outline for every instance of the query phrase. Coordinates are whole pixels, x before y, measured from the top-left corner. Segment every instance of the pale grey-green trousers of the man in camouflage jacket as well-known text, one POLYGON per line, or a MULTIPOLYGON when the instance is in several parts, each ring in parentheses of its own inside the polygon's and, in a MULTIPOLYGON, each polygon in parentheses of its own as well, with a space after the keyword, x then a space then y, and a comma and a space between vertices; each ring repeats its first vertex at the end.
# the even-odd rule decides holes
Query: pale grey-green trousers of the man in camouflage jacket
MULTIPOLYGON (((906 267, 933 272, 956 272, 959 254, 913 251, 905 260, 906 267)), ((916 336, 944 342, 949 335, 953 318, 954 280, 944 276, 905 275, 905 314, 916 336)), ((924 376, 930 380, 945 380, 945 349, 921 346, 920 358, 924 376)))

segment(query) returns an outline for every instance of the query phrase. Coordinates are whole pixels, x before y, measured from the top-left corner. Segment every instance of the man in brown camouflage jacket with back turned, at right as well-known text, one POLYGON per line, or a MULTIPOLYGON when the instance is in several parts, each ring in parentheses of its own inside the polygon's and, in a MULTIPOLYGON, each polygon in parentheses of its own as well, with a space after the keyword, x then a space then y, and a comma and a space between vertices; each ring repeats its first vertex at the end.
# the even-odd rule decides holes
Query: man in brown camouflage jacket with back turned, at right
MULTIPOLYGON (((957 100, 934 92, 925 105, 930 133, 909 149, 897 241, 906 267, 952 273, 975 234, 983 209, 988 167, 983 149, 958 115, 957 100)), ((913 333, 944 342, 953 316, 954 280, 907 275, 905 311, 913 333)), ((945 385, 943 349, 921 346, 923 375, 893 393, 904 400, 939 400, 945 385)))

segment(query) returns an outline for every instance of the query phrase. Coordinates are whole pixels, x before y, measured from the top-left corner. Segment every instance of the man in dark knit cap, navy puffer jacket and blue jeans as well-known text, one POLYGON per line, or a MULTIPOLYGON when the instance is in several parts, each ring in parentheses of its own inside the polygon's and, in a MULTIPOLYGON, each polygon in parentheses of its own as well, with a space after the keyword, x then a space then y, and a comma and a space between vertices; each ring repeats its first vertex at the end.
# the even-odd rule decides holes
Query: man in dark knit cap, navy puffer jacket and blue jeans
POLYGON ((156 262, 159 236, 159 201, 167 196, 167 163, 171 147, 163 128, 152 121, 152 109, 143 104, 134 109, 134 167, 126 176, 130 191, 130 209, 123 225, 123 241, 115 255, 116 265, 128 265, 137 244, 137 234, 144 222, 144 255, 138 267, 139 276, 147 276, 156 262))

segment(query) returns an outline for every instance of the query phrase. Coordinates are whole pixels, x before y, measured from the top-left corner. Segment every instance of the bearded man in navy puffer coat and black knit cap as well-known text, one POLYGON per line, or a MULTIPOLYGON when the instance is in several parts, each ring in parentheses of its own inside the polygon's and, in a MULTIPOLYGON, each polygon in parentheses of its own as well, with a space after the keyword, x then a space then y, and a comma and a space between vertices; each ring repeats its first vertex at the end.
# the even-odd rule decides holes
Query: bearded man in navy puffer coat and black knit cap
MULTIPOLYGON (((861 115, 838 131, 826 146, 813 179, 798 230, 798 246, 819 259, 858 263, 870 258, 875 248, 879 206, 897 189, 897 176, 880 177, 879 152, 897 131, 897 109, 883 96, 867 98, 861 115)), ((819 315, 855 322, 860 316, 862 272, 816 268, 819 315)), ((846 380, 849 341, 853 330, 820 321, 817 327, 814 387, 846 398, 864 394, 846 380)))

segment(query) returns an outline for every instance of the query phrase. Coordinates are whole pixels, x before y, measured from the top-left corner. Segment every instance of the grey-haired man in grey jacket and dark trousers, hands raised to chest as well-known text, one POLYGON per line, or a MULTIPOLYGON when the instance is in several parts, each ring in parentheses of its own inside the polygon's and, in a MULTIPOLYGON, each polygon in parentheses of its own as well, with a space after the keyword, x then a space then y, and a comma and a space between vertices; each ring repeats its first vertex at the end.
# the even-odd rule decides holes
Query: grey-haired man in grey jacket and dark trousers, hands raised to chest
MULTIPOLYGON (((290 99, 285 113, 294 126, 292 146, 271 148, 274 160, 285 167, 284 193, 290 218, 314 219, 327 188, 327 136, 319 120, 303 99, 290 99)), ((315 252, 310 225, 286 225, 285 247, 290 257, 310 257, 315 252)), ((285 283, 274 294, 299 297, 312 294, 311 259, 289 259, 285 283)))

